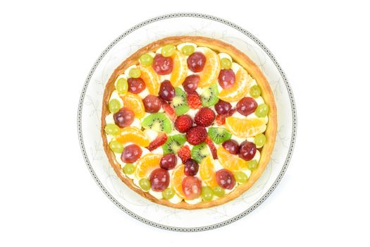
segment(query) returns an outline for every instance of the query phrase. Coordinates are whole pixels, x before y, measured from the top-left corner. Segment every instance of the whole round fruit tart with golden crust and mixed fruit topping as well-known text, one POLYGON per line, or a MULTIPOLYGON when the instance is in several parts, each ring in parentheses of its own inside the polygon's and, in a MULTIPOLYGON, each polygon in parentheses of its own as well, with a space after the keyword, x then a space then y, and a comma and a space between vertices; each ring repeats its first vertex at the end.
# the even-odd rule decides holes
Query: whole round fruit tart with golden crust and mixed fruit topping
POLYGON ((154 203, 221 205, 264 171, 276 104, 249 57, 209 37, 166 37, 116 68, 104 91, 101 136, 118 177, 154 203))

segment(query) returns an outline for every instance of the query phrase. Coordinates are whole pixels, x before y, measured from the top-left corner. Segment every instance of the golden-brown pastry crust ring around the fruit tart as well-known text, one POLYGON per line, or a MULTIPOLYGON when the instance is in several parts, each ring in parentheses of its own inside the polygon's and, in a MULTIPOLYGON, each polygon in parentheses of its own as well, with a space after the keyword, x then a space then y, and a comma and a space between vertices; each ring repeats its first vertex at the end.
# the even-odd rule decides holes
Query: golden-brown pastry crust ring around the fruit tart
POLYGON ((265 76, 261 73, 259 67, 256 64, 254 64, 254 62, 251 59, 249 59, 247 55, 240 52, 232 45, 209 37, 200 37, 200 36, 166 37, 162 40, 157 40, 156 42, 152 42, 147 46, 142 47, 137 52, 128 57, 128 59, 123 61, 123 63, 120 66, 118 66, 118 68, 116 68, 115 71, 113 71, 113 74, 109 78, 108 83, 106 84, 106 88, 104 90, 103 106, 101 112, 101 138, 103 139, 104 150, 106 152, 106 155, 108 156, 109 162, 111 163, 114 171, 116 171, 118 177, 133 191, 139 193, 144 198, 147 198, 154 203, 159 203, 161 205, 166 205, 168 207, 175 207, 186 210, 214 207, 216 205, 227 203, 228 201, 237 198, 239 195, 247 191, 257 181, 257 179, 259 179, 259 176, 261 176, 262 172, 266 168, 266 165, 269 163, 271 153, 273 151, 273 145, 275 144, 276 128, 277 128, 276 104, 273 97, 273 92, 271 91, 269 82, 266 80, 265 76), (209 47, 216 52, 225 52, 229 54, 234 61, 240 64, 240 66, 244 67, 249 73, 249 75, 252 76, 254 80, 256 80, 257 84, 261 88, 261 96, 264 98, 266 104, 269 105, 269 123, 267 123, 267 128, 265 131, 266 143, 264 147, 262 147, 261 149, 261 158, 259 160, 259 166, 256 170, 252 171, 252 174, 249 176, 247 183, 239 185, 237 188, 235 188, 234 191, 228 193, 222 198, 218 198, 217 200, 211 200, 209 202, 202 201, 201 203, 197 203, 194 205, 186 203, 185 201, 174 204, 170 203, 168 200, 162 199, 159 200, 154 198, 154 196, 150 195, 149 193, 142 191, 141 188, 137 188, 133 181, 131 179, 128 179, 125 176, 125 174, 123 174, 123 171, 121 170, 121 165, 118 164, 114 153, 109 148, 106 139, 106 133, 104 131, 104 126, 106 126, 105 118, 109 114, 108 102, 111 93, 113 92, 113 90, 115 90, 114 83, 116 81, 116 78, 118 78, 119 75, 124 73, 124 71, 132 64, 138 64, 138 59, 142 54, 152 51, 155 52, 156 49, 163 47, 164 44, 178 45, 183 42, 192 42, 197 44, 198 46, 209 47))

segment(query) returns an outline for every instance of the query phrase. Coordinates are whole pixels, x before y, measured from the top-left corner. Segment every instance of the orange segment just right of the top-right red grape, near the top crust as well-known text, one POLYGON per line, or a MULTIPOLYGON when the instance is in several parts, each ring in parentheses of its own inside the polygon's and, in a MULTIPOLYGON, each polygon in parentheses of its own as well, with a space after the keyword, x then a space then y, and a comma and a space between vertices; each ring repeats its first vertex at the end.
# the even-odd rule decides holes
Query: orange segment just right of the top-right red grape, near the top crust
POLYGON ((209 87, 209 85, 216 82, 221 70, 220 58, 216 52, 204 47, 204 56, 206 56, 206 64, 204 64, 203 71, 199 73, 198 87, 200 88, 209 87))

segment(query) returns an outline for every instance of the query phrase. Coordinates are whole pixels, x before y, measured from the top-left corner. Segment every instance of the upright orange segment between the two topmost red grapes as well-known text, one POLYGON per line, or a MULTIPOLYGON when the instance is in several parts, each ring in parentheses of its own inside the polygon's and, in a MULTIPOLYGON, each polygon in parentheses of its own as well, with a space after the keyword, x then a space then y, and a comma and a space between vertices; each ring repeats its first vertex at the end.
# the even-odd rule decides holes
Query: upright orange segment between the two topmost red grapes
POLYGON ((171 73, 171 84, 173 87, 181 85, 187 76, 187 61, 186 57, 178 50, 172 55, 173 70, 171 73))

